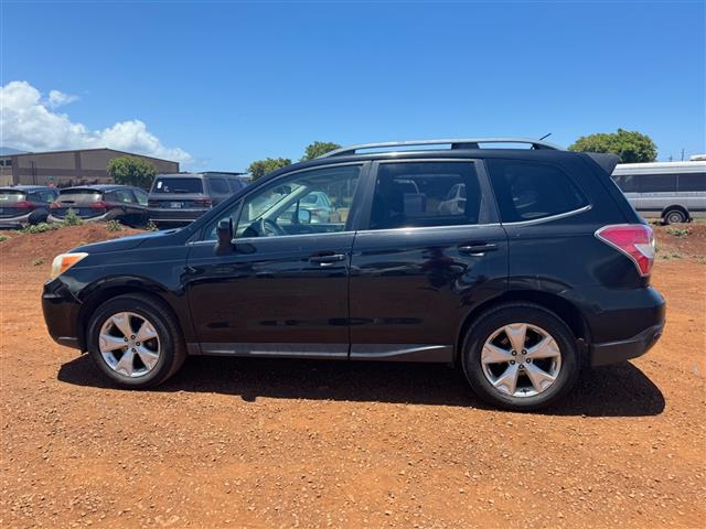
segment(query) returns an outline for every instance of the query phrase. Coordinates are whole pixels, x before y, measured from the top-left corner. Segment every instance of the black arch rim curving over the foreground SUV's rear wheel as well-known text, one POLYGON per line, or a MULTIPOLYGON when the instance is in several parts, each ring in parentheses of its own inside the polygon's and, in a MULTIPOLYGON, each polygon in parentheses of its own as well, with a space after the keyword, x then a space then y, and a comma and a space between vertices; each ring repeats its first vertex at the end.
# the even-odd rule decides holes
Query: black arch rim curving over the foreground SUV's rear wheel
POLYGON ((463 350, 463 342, 471 325, 481 316, 481 314, 510 302, 534 303, 554 313, 569 327, 579 346, 581 355, 587 357, 587 347, 591 343, 590 328, 586 319, 581 315, 579 309, 571 302, 560 295, 544 292, 539 290, 511 290, 492 300, 488 300, 466 316, 457 336, 456 347, 453 352, 454 365, 460 365, 461 353, 463 350))

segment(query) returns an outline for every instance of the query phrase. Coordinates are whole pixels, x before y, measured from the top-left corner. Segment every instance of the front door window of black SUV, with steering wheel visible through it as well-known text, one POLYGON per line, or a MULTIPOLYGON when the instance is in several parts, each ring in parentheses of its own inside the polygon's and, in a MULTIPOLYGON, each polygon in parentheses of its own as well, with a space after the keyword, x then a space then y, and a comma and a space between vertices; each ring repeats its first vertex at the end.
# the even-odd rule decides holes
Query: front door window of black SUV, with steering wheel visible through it
POLYGON ((344 231, 360 173, 360 165, 339 165, 277 179, 233 204, 204 239, 214 239, 218 222, 227 218, 237 238, 344 231))

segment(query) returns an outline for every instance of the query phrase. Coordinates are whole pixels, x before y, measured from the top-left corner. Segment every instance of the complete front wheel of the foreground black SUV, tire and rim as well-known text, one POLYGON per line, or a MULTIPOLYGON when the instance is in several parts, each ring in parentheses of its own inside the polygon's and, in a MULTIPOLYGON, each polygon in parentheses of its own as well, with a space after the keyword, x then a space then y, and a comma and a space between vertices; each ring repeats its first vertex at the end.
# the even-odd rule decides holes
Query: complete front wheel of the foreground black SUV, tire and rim
POLYGON ((124 294, 106 301, 90 316, 86 337, 88 355, 95 366, 111 382, 124 388, 158 386, 174 375, 186 359, 186 347, 176 320, 165 303, 151 295, 124 294), (145 322, 151 328, 145 327, 140 338, 145 322), (126 336, 120 328, 130 328, 135 334, 126 336), (125 343, 122 350, 117 348, 120 341, 125 343), (113 350, 106 350, 110 348, 113 350), (131 356, 125 357, 121 364, 124 355, 131 356))

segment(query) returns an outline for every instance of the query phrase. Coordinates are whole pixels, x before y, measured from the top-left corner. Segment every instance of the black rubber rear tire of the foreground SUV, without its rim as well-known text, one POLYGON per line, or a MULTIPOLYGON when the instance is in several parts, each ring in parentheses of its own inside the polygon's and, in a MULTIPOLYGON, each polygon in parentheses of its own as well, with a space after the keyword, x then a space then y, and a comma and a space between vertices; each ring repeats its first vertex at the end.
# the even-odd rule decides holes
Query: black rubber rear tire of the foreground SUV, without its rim
MULTIPOLYGON (((537 410, 558 401, 576 384, 580 370, 577 341, 569 327, 556 314, 533 303, 506 303, 489 310, 469 328, 462 353, 463 373, 473 391, 494 407, 514 411, 537 410), (539 327, 554 338, 559 348, 560 368, 555 381, 534 396, 504 393, 491 384, 483 371, 481 354, 485 342, 496 331, 515 323, 539 327)), ((521 375, 521 378, 525 380, 525 376, 521 375)), ((530 381, 528 377, 526 381, 530 381)))

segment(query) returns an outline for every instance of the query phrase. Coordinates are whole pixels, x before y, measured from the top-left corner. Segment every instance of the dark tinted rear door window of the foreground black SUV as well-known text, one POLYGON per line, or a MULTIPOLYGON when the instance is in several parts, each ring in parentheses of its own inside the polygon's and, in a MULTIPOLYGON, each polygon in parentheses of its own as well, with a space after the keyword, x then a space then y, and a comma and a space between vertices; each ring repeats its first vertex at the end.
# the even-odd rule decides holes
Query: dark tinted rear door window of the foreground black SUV
POLYGON ((481 203, 471 162, 381 163, 370 228, 479 224, 481 203))

